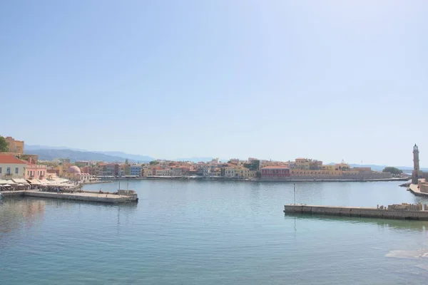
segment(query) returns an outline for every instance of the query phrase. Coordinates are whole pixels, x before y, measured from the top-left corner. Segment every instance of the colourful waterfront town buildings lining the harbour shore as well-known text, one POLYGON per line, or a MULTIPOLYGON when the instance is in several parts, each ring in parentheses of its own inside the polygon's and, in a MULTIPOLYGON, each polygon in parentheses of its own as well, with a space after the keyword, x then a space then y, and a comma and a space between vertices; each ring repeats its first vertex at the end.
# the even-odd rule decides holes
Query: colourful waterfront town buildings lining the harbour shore
MULTIPOLYGON (((72 161, 69 157, 39 160, 39 155, 24 153, 25 142, 1 137, 0 178, 16 178, 21 183, 49 184, 58 177, 76 183, 98 180, 156 177, 200 177, 206 179, 240 180, 384 180, 394 175, 389 171, 375 171, 371 167, 351 166, 342 160, 325 164, 321 160, 298 157, 295 160, 275 161, 248 157, 231 158, 222 162, 214 158, 208 162, 152 160, 150 162, 105 162, 95 160, 72 161), (6 142, 6 143, 5 143, 6 142), (1 174, 2 173, 2 174, 1 174), (23 180, 24 179, 24 180, 23 180)), ((416 145, 414 146, 416 147, 416 145)), ((419 152, 418 152, 419 157, 419 152)), ((419 162, 419 158, 418 158, 419 162)), ((417 166, 419 169, 419 165, 417 166)), ((3 181, 5 185, 13 181, 3 181)))

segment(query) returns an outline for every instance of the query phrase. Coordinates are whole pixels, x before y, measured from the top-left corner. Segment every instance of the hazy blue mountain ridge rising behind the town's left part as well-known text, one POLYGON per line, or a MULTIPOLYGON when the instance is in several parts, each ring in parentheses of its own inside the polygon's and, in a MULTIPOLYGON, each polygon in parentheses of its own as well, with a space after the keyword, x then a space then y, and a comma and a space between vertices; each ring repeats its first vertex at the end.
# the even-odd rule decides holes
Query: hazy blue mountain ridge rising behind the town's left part
POLYGON ((59 157, 70 158, 71 162, 78 160, 97 160, 105 162, 150 162, 155 160, 146 155, 130 155, 125 152, 91 152, 71 149, 68 147, 49 147, 45 145, 25 145, 25 153, 39 155, 39 160, 54 160, 59 157))

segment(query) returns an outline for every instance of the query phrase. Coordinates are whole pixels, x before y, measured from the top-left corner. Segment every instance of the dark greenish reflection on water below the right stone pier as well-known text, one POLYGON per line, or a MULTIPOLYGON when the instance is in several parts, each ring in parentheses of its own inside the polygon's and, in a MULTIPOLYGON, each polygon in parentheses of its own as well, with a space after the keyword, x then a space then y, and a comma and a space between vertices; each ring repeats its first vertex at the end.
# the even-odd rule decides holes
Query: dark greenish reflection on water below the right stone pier
POLYGON ((416 232, 425 232, 428 229, 428 221, 409 221, 405 219, 377 219, 301 213, 286 213, 285 219, 294 219, 295 225, 299 221, 312 220, 317 222, 339 222, 344 224, 372 224, 378 227, 412 230, 416 232))

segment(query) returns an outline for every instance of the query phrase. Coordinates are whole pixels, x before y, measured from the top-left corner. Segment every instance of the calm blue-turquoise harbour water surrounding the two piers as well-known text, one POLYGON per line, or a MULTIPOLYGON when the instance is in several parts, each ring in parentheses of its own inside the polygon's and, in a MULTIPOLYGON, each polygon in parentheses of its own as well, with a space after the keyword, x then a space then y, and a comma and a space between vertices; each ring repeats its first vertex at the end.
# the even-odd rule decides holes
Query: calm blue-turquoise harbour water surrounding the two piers
MULTIPOLYGON (((300 182, 296 198, 374 207, 428 202, 399 184, 300 182)), ((128 187, 138 204, 6 198, 0 284, 427 284, 428 222, 285 215, 292 183, 128 187)), ((84 189, 100 188, 117 183, 84 189)))

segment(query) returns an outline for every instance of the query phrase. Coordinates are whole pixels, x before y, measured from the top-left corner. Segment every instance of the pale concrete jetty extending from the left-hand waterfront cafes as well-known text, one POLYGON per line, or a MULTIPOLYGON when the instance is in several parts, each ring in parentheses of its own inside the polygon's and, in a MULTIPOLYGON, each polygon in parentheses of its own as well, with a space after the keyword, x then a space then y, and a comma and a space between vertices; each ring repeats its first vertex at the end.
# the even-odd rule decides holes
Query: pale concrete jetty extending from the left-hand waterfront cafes
POLYGON ((71 192, 71 193, 57 193, 57 192, 42 192, 37 190, 22 190, 22 191, 4 191, 1 192, 4 197, 10 196, 27 196, 39 197, 49 199, 66 199, 85 202, 99 202, 108 204, 138 202, 138 195, 134 191, 119 190, 117 193, 100 193, 100 192, 71 192))

